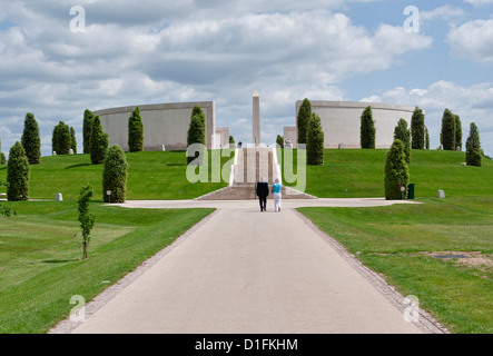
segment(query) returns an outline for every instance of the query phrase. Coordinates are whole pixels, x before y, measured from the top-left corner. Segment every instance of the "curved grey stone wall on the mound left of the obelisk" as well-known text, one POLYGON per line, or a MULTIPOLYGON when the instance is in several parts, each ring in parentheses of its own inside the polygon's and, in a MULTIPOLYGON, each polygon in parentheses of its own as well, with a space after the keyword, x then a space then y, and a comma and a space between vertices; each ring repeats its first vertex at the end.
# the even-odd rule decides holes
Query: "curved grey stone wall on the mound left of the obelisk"
MULTIPOLYGON (((206 116, 206 145, 216 148, 216 113, 214 101, 139 105, 144 123, 144 150, 186 150, 191 110, 199 106, 206 116)), ((128 150, 128 118, 136 106, 95 111, 110 145, 128 150)))

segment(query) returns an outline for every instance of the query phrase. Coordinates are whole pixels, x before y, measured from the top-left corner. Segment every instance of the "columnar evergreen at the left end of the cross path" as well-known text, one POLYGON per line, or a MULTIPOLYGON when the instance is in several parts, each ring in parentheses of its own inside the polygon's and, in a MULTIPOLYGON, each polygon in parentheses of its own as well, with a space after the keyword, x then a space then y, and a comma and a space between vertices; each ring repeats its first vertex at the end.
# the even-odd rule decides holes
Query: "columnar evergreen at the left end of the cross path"
POLYGON ((102 196, 105 202, 125 202, 127 197, 127 158, 120 146, 108 149, 102 170, 102 196), (111 191, 108 195, 107 191, 111 191))

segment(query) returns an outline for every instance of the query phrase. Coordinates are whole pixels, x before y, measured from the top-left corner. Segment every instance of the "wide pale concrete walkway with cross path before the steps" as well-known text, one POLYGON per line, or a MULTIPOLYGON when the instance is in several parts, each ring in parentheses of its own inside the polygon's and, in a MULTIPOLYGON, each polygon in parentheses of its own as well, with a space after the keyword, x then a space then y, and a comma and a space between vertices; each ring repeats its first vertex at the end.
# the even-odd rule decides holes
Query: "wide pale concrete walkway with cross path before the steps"
MULTIPOLYGON (((341 199, 317 201, 324 200, 349 205, 341 199)), ((373 206, 385 200, 352 201, 373 206)), ((303 206, 303 201, 286 200, 277 214, 272 207, 258 211, 256 201, 127 202, 127 207, 219 210, 121 290, 106 296, 85 323, 73 328, 67 322, 52 332, 428 332, 406 322, 385 290, 376 288, 288 204, 303 206)))

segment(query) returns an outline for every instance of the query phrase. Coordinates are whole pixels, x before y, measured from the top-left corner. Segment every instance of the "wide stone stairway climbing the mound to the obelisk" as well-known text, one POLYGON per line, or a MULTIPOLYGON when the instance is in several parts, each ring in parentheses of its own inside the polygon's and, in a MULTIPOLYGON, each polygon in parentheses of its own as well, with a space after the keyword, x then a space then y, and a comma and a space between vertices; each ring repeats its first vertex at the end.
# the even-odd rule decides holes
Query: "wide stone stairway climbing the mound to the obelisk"
MULTIPOLYGON (((196 200, 254 200, 257 199, 255 186, 260 177, 269 184, 282 180, 280 168, 274 148, 240 148, 236 150, 237 160, 233 169, 233 185, 196 198, 196 200)), ((310 195, 283 186, 283 199, 316 199, 310 195)), ((268 196, 273 199, 273 195, 268 196)))

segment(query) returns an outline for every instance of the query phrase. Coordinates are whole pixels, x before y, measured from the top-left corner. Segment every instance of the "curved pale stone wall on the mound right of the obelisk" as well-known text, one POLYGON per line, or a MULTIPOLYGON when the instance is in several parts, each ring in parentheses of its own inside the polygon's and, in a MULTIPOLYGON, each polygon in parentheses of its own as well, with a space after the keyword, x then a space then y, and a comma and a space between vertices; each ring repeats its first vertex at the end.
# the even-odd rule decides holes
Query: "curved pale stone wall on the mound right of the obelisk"
MULTIPOLYGON (((296 116, 302 103, 303 100, 296 101, 296 116)), ((368 106, 372 107, 376 128, 375 147, 390 148, 394 140, 397 121, 403 118, 411 127, 411 117, 415 109, 408 106, 378 102, 310 100, 310 103, 312 111, 322 119, 325 148, 338 148, 341 144, 344 148, 361 148, 361 116, 368 106)))

